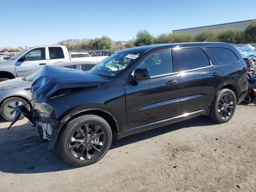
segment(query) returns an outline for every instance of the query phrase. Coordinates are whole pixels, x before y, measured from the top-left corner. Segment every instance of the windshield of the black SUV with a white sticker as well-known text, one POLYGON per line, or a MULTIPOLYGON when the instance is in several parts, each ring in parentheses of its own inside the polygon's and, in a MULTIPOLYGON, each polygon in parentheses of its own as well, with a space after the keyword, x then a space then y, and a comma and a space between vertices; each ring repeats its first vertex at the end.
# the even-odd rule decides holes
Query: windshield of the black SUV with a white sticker
POLYGON ((94 66, 89 73, 112 78, 132 64, 143 52, 116 52, 94 66))

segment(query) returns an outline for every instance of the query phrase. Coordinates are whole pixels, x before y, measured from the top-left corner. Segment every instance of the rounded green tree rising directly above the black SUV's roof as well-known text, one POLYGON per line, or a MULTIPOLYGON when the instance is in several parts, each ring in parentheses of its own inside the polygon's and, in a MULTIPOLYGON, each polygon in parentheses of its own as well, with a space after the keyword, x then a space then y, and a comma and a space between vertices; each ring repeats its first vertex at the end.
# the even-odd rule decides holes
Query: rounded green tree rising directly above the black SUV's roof
POLYGON ((148 30, 139 30, 134 41, 135 46, 152 45, 154 43, 154 36, 148 30))

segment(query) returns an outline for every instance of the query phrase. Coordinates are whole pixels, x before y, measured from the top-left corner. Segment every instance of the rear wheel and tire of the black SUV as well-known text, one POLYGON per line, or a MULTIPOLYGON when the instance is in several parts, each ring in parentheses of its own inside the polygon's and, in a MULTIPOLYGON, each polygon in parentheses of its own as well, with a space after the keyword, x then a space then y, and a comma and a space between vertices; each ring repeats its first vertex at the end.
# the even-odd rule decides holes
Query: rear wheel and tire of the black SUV
POLYGON ((212 106, 210 108, 209 117, 212 121, 221 124, 221 123, 228 122, 233 117, 235 111, 236 111, 236 95, 230 89, 222 89, 222 90, 219 90, 216 96, 214 97, 212 106))

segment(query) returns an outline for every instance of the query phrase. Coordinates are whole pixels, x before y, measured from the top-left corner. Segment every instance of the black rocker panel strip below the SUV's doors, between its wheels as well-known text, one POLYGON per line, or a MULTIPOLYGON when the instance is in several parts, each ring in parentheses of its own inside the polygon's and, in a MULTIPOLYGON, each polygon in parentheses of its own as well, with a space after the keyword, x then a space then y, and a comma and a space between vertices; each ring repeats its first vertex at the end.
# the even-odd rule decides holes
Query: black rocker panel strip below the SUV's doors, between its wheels
POLYGON ((130 129, 126 130, 125 132, 122 132, 122 133, 116 133, 115 132, 115 138, 116 139, 121 139, 121 138, 126 137, 128 135, 136 134, 136 133, 139 133, 139 132, 143 132, 143 131, 147 131, 147 130, 150 130, 150 129, 154 129, 154 128, 166 126, 166 125, 169 125, 169 124, 172 124, 172 123, 187 120, 187 119, 202 115, 204 113, 206 113, 206 110, 198 110, 198 111, 194 111, 194 112, 190 112, 190 113, 185 113, 185 114, 182 114, 182 115, 179 115, 179 116, 175 116, 175 117, 172 117, 172 118, 163 119, 163 120, 143 124, 143 125, 140 125, 140 126, 132 127, 130 129))

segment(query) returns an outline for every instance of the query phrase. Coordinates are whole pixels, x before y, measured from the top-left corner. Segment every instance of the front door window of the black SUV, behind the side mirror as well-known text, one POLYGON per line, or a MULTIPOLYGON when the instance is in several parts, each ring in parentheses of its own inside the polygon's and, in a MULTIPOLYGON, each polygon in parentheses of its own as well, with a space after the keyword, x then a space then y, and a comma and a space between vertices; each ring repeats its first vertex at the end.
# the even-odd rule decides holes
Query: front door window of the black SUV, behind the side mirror
POLYGON ((164 50, 152 53, 137 68, 147 68, 150 71, 150 76, 172 73, 172 51, 164 50))

